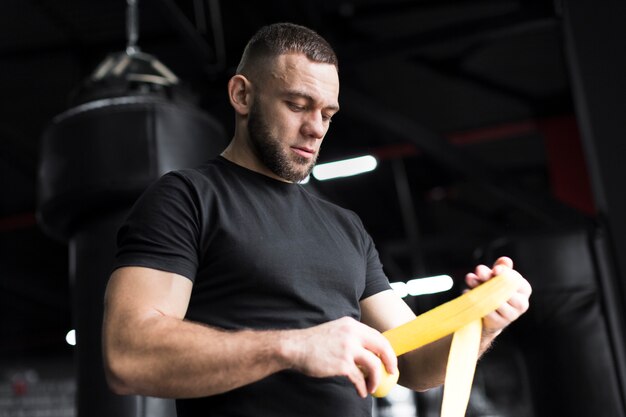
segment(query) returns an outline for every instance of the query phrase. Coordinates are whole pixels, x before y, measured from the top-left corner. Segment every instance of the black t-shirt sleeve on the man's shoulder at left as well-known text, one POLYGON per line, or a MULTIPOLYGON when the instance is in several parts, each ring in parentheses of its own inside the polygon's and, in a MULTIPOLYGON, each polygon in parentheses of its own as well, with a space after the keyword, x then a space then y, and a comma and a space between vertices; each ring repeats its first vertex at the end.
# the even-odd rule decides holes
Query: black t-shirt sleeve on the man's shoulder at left
POLYGON ((180 173, 166 174, 150 186, 118 231, 114 267, 154 268, 193 281, 199 265, 196 197, 180 173))

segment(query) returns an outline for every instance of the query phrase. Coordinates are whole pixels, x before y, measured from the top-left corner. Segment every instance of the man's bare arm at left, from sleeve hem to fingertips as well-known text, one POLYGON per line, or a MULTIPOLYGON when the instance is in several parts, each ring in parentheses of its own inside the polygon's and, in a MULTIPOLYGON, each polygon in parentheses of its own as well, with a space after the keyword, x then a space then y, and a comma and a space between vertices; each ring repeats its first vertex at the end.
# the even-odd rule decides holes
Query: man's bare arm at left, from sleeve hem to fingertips
POLYGON ((119 394, 189 398, 225 392, 283 369, 343 375, 365 396, 379 362, 396 360, 386 340, 352 319, 302 330, 225 331, 184 320, 192 283, 149 268, 117 269, 105 296, 103 354, 119 394), (364 378, 360 369, 370 375, 364 378))

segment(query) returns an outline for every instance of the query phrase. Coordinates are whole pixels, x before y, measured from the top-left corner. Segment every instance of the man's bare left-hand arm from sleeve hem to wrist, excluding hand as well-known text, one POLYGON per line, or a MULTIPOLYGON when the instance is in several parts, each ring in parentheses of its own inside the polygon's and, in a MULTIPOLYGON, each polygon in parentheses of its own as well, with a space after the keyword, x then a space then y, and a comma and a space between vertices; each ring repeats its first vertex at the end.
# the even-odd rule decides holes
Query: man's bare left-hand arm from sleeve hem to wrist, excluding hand
POLYGON ((196 397, 223 392, 284 369, 271 332, 226 332, 183 320, 192 282, 148 268, 120 268, 105 297, 103 352, 121 394, 196 397))

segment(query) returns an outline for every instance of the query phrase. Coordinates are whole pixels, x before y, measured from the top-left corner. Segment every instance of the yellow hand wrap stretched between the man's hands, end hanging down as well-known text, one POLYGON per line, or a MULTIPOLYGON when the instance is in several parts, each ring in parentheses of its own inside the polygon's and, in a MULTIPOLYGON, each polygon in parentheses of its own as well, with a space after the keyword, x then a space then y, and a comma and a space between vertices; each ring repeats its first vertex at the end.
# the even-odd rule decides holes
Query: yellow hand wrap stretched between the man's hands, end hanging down
MULTIPOLYGON (((383 333, 397 356, 454 333, 446 367, 442 417, 464 415, 478 359, 482 318, 511 298, 519 285, 513 275, 498 275, 462 296, 383 333)), ((375 397, 387 395, 399 377, 398 374, 389 375, 385 370, 384 375, 374 392, 375 397)))

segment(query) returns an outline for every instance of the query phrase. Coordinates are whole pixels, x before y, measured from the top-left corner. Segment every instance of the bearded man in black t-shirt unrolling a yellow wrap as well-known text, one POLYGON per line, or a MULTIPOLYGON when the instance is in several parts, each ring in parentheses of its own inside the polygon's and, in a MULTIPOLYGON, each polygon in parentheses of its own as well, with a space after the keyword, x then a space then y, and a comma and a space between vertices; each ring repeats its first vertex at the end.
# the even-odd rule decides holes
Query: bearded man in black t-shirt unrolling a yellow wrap
MULTIPOLYGON (((165 175, 120 229, 105 299, 112 389, 177 398, 181 417, 320 417, 370 415, 381 361, 412 389, 441 384, 450 338, 394 356, 380 332, 413 312, 357 216, 298 184, 339 110, 331 47, 301 26, 262 28, 228 94, 222 155, 165 175)), ((466 281, 511 268, 501 258, 466 281)), ((528 308, 519 280, 484 319, 481 351, 528 308)))

